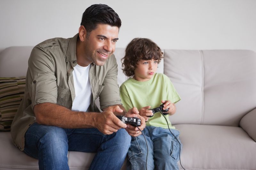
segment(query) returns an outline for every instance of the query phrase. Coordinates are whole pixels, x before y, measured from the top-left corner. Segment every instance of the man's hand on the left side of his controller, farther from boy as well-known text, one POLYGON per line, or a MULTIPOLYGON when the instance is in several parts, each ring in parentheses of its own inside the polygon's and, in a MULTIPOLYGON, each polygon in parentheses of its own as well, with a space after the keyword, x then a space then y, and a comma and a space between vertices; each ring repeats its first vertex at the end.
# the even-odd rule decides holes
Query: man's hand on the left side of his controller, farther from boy
POLYGON ((100 132, 110 135, 117 132, 118 129, 126 128, 127 125, 120 121, 114 112, 122 113, 123 110, 119 106, 110 106, 95 117, 95 125, 100 132))

